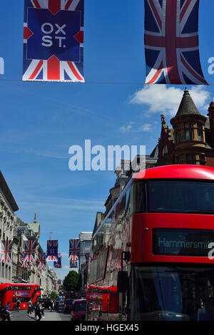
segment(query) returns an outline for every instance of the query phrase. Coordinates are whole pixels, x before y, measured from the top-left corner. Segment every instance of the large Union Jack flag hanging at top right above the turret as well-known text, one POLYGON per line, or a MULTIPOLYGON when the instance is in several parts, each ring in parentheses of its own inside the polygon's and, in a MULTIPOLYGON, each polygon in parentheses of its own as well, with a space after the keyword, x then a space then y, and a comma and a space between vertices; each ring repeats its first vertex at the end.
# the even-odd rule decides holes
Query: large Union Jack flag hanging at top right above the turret
POLYGON ((146 83, 208 85, 198 48, 199 0, 145 0, 146 83))

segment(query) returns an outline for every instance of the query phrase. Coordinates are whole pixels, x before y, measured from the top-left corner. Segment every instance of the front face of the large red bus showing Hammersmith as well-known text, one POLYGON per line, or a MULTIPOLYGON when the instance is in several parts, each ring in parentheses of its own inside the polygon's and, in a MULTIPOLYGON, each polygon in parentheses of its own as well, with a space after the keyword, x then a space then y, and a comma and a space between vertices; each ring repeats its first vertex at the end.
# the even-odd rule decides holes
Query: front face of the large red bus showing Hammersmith
POLYGON ((214 320, 214 169, 164 168, 133 181, 129 317, 214 320))

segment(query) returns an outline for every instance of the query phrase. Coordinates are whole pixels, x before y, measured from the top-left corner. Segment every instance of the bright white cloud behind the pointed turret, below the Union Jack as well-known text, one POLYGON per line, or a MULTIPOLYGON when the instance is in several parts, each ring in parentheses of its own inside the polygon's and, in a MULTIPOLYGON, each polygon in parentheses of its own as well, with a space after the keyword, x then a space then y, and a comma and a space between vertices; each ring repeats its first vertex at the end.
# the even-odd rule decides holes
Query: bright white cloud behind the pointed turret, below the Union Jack
MULTIPOLYGON (((198 109, 207 110, 210 93, 204 86, 193 86, 188 90, 198 109)), ((183 97, 181 88, 166 85, 146 85, 131 96, 131 103, 148 105, 151 113, 165 113, 174 116, 183 97)))

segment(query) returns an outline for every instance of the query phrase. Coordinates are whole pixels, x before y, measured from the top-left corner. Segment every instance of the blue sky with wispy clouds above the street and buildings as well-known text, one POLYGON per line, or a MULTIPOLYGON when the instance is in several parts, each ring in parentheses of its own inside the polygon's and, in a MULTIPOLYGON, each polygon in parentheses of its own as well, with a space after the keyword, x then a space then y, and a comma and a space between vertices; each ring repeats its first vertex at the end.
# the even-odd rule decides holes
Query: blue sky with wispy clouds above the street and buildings
MULTIPOLYGON (((214 57, 213 1, 200 1, 200 61, 206 80, 214 57)), ((143 0, 86 0, 84 73, 86 83, 22 82, 24 0, 3 1, 0 12, 0 170, 24 222, 37 213, 41 246, 51 232, 63 253, 59 279, 68 273, 68 239, 92 231, 116 180, 113 171, 68 168, 68 149, 91 145, 158 143, 161 114, 167 123, 178 109, 184 86, 144 86, 143 0), (156 98, 154 98, 156 97, 156 98)), ((213 86, 188 87, 206 115, 213 86)), ((51 264, 51 263, 50 263, 51 264)))

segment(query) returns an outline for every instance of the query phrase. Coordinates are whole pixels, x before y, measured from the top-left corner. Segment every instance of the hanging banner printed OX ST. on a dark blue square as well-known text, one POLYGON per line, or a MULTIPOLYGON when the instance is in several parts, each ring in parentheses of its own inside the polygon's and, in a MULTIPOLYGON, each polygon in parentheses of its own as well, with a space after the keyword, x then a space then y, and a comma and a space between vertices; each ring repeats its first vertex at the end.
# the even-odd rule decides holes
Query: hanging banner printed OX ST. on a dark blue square
POLYGON ((24 1, 23 81, 84 82, 84 0, 24 1))

